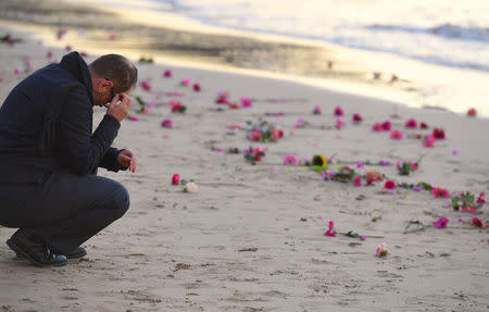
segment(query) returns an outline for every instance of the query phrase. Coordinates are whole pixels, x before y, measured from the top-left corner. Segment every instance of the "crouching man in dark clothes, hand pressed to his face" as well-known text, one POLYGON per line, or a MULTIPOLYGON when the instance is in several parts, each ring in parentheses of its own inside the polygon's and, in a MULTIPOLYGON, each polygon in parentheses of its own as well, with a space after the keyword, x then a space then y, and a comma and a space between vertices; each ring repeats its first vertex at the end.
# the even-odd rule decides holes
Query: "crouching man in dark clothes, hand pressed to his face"
POLYGON ((136 66, 117 54, 87 66, 77 52, 25 78, 0 108, 0 225, 7 241, 39 266, 86 254, 80 245, 120 219, 129 196, 97 169, 136 171, 111 145, 129 112, 136 66), (93 105, 109 104, 92 133, 93 105))

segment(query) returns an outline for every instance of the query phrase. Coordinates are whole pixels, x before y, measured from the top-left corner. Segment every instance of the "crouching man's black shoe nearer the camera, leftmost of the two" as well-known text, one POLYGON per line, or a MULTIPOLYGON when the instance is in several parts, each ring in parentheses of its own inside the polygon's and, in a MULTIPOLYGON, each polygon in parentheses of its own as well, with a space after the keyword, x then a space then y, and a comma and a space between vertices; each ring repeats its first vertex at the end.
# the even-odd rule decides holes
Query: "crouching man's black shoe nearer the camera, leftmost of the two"
POLYGON ((45 244, 29 239, 27 235, 17 230, 7 240, 7 245, 16 254, 27 258, 37 266, 61 266, 66 264, 66 257, 52 253, 45 244))

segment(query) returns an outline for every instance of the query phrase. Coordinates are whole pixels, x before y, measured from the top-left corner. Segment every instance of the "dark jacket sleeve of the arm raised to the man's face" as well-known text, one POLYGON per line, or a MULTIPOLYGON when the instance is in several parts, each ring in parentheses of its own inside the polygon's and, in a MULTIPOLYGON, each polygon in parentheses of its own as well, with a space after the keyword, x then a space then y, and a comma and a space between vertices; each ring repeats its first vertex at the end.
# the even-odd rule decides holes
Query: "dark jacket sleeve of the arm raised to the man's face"
POLYGON ((99 166, 121 127, 114 116, 106 114, 91 134, 92 115, 88 95, 72 90, 59 120, 59 148, 62 163, 76 175, 88 175, 99 166))

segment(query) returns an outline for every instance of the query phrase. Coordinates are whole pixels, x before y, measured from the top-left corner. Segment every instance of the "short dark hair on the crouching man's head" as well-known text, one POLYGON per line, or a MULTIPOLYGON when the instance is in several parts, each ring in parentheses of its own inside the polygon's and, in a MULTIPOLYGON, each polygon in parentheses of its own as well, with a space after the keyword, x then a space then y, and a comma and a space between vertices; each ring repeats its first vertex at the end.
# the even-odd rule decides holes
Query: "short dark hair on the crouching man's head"
POLYGON ((120 54, 105 54, 88 65, 97 76, 111 80, 114 92, 125 92, 138 82, 138 68, 120 54))

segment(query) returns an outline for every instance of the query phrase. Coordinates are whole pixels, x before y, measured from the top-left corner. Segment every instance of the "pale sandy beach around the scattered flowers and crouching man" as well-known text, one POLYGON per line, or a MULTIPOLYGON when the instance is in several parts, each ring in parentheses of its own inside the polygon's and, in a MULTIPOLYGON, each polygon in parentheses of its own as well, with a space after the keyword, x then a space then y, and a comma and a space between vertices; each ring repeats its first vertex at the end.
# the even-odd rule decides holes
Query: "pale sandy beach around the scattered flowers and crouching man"
MULTIPOLYGON (((138 155, 138 171, 99 172, 127 187, 128 213, 87 241, 87 258, 70 261, 64 267, 32 266, 3 245, 0 311, 489 310, 489 228, 473 225, 473 216, 489 222, 487 204, 466 213, 452 209, 450 198, 435 198, 427 190, 399 185, 386 190, 385 180, 372 186, 362 180, 361 187, 354 187, 353 183, 325 180, 304 165, 284 164, 288 154, 299 160, 326 154, 337 161, 330 162, 331 170, 348 163, 360 175, 378 170, 396 183, 425 182, 452 196, 459 191, 479 196, 489 191, 489 120, 230 71, 216 60, 241 47, 227 50, 238 41, 227 35, 209 35, 204 47, 192 46, 192 38, 202 34, 165 30, 187 43, 176 47, 176 40, 168 37, 158 48, 160 54, 153 53, 151 45, 135 50, 134 41, 125 40, 124 29, 129 32, 130 23, 120 25, 112 42, 108 40, 113 33, 109 26, 90 27, 90 21, 100 18, 93 11, 85 18, 84 12, 73 11, 79 21, 72 20, 67 36, 77 41, 67 37, 52 46, 47 40, 42 43, 39 38, 46 34, 55 38, 55 32, 65 25, 54 17, 47 22, 39 17, 42 15, 29 15, 33 11, 26 8, 36 8, 37 2, 25 8, 20 4, 17 11, 30 16, 18 18, 22 25, 15 16, 7 16, 8 11, 0 14, 0 37, 11 34, 22 39, 13 46, 0 43, 0 102, 32 71, 48 64, 49 51, 52 60, 61 60, 67 53, 61 47, 68 43, 87 51, 87 62, 111 49, 130 57, 137 63, 139 83, 146 82, 151 89, 138 84, 133 97, 140 97, 148 110, 140 113, 135 101, 131 115, 137 121, 125 120, 114 142, 138 155), (85 33, 78 36, 76 27, 82 26, 85 33), (215 47, 226 49, 213 50, 215 47), (200 61, 206 66, 160 61, 172 53, 178 54, 180 63, 200 61), (138 62, 143 54, 155 55, 156 62, 138 62), (165 71, 171 71, 172 77, 164 77, 165 71), (181 84, 184 79, 189 80, 188 86, 181 84), (201 90, 195 91, 193 84, 201 90), (248 97, 252 105, 230 109, 217 104, 222 91, 229 93, 231 103, 239 104, 241 97, 248 97), (172 112, 176 101, 187 108, 184 114, 172 112), (313 114, 316 107, 322 114, 313 114), (335 116, 337 107, 343 116, 335 116), (361 123, 352 122, 354 113, 363 117, 361 123), (173 127, 161 126, 165 118, 173 127), (250 141, 246 123, 256 124, 260 118, 281 129, 284 137, 276 142, 250 141), (406 128, 410 118, 428 128, 406 128), (372 129, 385 121, 390 122, 391 130, 372 129), (446 138, 424 147, 416 135, 425 137, 434 128, 443 129, 446 138), (391 139, 393 130, 401 132, 402 139, 391 139), (243 157, 250 146, 266 149, 266 155, 254 165, 243 157), (240 153, 228 152, 235 148, 240 153), (396 167, 399 159, 419 161, 419 169, 401 176, 396 167), (379 166, 380 160, 390 165, 379 166), (174 174, 192 179, 198 191, 184 192, 183 185, 173 186, 174 174), (449 219, 446 228, 430 226, 441 216, 449 219), (336 237, 324 235, 328 221, 335 223, 336 237), (405 234, 410 221, 426 228, 405 234), (367 237, 341 235, 350 230, 367 237), (388 254, 379 258, 376 248, 383 242, 388 254)), ((68 5, 55 8, 49 10, 70 11, 68 5)), ((147 30, 150 35, 145 38, 152 38, 155 30, 149 26, 147 30)), ((249 39, 240 45, 249 45, 249 51, 260 48, 271 53, 248 60, 243 52, 242 62, 266 64, 266 58, 300 49, 304 58, 319 53, 274 40, 249 39)), ((337 60, 334 53, 328 58, 337 60)), ((103 109, 97 109, 96 125, 103 114, 103 109)), ((0 241, 14 230, 0 227, 0 241)))

